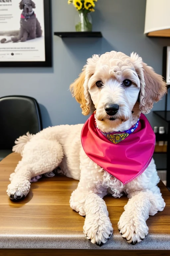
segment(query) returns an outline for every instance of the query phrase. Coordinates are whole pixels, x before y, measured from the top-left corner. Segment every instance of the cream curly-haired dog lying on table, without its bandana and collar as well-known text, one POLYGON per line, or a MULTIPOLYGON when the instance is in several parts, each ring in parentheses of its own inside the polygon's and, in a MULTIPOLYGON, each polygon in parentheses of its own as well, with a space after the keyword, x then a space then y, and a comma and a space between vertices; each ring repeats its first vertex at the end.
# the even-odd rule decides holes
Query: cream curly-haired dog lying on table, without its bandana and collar
MULTIPOLYGON (((162 77, 137 54, 129 57, 115 51, 89 58, 70 88, 81 104, 82 113, 95 113, 96 129, 103 134, 125 131, 138 124, 141 113, 149 113, 153 103, 166 93, 162 77)), ((79 180, 71 194, 70 206, 86 216, 83 229, 87 239, 97 245, 107 242, 113 228, 103 197, 108 193, 113 197, 126 193, 129 201, 118 228, 128 243, 140 242, 148 234, 149 215, 165 207, 152 156, 143 172, 130 182, 121 182, 85 153, 81 143, 82 127, 83 124, 48 127, 36 135, 28 133, 17 139, 13 151, 21 153, 22 160, 10 176, 8 196, 16 200, 27 196, 31 181, 45 173, 50 176, 60 167, 60 174, 79 180)), ((132 134, 128 138, 132 138, 130 136, 132 134)), ((123 141, 119 147, 121 143, 123 145, 123 141)))

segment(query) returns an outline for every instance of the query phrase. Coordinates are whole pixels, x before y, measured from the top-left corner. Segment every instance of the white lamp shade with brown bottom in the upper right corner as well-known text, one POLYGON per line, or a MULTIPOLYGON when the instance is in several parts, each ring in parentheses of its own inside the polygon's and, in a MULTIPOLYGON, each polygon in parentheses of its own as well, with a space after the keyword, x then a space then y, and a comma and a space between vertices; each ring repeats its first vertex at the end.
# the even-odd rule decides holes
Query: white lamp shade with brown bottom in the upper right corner
POLYGON ((170 0, 146 0, 144 34, 170 36, 170 0))

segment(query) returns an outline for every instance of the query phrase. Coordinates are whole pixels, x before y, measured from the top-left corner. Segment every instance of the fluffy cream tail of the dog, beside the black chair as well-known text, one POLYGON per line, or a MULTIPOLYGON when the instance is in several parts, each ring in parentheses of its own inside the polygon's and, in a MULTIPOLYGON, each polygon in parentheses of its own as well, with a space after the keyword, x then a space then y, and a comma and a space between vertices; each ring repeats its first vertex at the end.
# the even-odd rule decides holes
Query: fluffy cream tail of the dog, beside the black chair
POLYGON ((28 141, 31 140, 33 136, 34 135, 30 134, 29 132, 27 132, 26 135, 20 136, 18 139, 16 139, 15 141, 16 145, 13 146, 12 151, 22 155, 25 145, 27 144, 28 141))

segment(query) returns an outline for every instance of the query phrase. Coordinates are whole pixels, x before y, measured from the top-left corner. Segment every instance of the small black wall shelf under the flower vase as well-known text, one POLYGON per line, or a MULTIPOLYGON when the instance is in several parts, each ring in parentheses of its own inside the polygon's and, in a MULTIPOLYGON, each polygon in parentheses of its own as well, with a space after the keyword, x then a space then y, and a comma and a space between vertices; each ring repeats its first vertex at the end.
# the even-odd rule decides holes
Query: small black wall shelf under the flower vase
POLYGON ((54 32, 59 37, 103 37, 101 32, 54 32))

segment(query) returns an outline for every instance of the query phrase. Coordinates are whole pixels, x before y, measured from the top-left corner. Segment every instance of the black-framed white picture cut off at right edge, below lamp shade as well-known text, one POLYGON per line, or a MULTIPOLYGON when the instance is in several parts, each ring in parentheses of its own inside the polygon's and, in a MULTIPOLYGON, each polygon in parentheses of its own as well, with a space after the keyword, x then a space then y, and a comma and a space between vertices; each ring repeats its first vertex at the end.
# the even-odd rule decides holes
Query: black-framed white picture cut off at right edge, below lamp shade
POLYGON ((167 84, 170 84, 170 46, 163 47, 163 72, 167 84))

